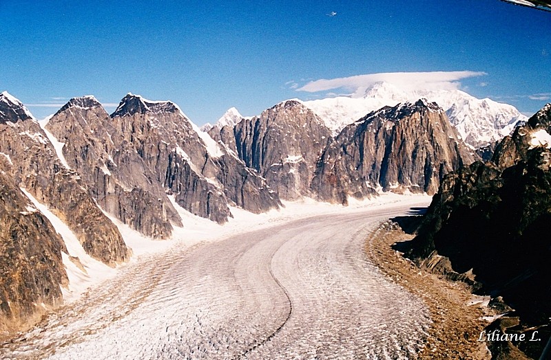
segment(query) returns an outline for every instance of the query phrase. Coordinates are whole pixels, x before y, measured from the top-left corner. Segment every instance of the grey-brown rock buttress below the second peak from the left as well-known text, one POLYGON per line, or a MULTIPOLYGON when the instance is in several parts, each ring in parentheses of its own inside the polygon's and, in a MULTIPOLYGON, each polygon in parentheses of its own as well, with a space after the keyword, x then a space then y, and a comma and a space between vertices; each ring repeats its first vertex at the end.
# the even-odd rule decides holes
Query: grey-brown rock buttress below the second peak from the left
POLYGON ((45 130, 103 210, 152 238, 169 238, 171 224, 182 225, 156 175, 94 97, 71 99, 45 130))

